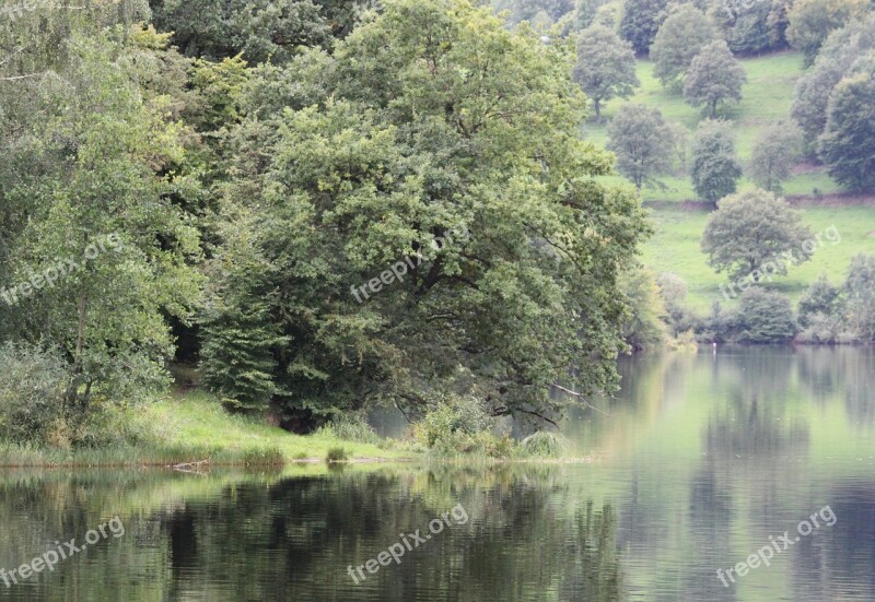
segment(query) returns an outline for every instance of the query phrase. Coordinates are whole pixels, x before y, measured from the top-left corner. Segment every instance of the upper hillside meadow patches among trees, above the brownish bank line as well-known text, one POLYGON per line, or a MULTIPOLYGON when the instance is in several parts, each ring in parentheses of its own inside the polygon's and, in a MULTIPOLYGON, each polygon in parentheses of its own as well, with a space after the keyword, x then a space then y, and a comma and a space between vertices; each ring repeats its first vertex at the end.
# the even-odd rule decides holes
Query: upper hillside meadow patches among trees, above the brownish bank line
MULTIPOLYGON (((781 52, 742 61, 748 79, 743 90, 744 99, 738 105, 724 109, 722 117, 734 122, 736 151, 743 165, 749 162, 760 129, 772 121, 790 117, 793 88, 803 72, 802 60, 802 55, 798 52, 781 52)), ((653 76, 653 62, 639 61, 637 71, 641 86, 635 91, 635 95, 628 101, 615 98, 607 103, 603 109, 603 117, 606 120, 610 119, 626 102, 653 106, 658 108, 667 120, 682 125, 691 140, 699 121, 703 119, 701 109, 687 105, 680 93, 664 88, 653 76)), ((588 123, 584 128, 584 137, 605 145, 608 140, 606 122, 588 123)), ((686 174, 664 176, 660 180, 665 188, 644 187, 642 198, 645 201, 696 199, 692 184, 686 174)), ((752 187, 752 182, 747 178, 739 182, 742 190, 752 187)), ((841 187, 822 168, 814 172, 806 169, 805 173, 793 175, 784 182, 784 192, 794 197, 808 197, 841 192, 841 187)))

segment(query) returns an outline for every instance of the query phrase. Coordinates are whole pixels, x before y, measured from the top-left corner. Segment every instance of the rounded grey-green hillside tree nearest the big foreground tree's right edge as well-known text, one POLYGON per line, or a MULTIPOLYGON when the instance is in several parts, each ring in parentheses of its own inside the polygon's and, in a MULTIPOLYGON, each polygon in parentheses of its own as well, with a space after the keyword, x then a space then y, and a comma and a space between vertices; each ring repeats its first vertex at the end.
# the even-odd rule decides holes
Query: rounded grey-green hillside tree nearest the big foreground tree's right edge
POLYGON ((623 105, 608 123, 608 150, 617 155, 617 169, 641 190, 654 175, 672 167, 672 130, 658 109, 623 105))

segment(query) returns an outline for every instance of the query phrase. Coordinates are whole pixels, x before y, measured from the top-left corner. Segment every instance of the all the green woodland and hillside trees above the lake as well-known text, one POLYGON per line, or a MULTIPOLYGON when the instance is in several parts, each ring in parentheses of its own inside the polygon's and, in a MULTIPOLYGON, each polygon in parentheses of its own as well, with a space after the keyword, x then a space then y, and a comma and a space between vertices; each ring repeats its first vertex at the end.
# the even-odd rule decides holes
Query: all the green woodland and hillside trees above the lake
MULTIPOLYGON (((97 445, 92 416, 165 389, 174 366, 196 366, 228 410, 298 432, 377 404, 436 408, 434 442, 488 417, 544 424, 558 383, 583 403, 610 391, 632 347, 790 340, 800 324, 875 339, 872 257, 813 285, 798 323, 758 286, 737 315, 692 315, 682 282, 640 268, 646 212, 611 177, 657 179, 676 130, 632 106, 610 151, 581 135, 639 85, 635 55, 719 117, 744 81, 733 52, 795 45, 813 63, 800 95, 821 106, 794 111, 800 152, 868 190, 860 2, 763 1, 730 20, 709 1, 81 4, 0 14, 4 439, 97 445), (812 16, 824 10, 831 34, 812 16)), ((725 126, 708 121, 692 147, 719 222, 740 175, 725 126)), ((783 150, 763 151, 774 192, 783 150)), ((757 226, 771 246, 714 251, 715 269, 756 270, 804 238, 761 194, 780 217, 757 226)), ((730 238, 754 227, 726 220, 730 238)))

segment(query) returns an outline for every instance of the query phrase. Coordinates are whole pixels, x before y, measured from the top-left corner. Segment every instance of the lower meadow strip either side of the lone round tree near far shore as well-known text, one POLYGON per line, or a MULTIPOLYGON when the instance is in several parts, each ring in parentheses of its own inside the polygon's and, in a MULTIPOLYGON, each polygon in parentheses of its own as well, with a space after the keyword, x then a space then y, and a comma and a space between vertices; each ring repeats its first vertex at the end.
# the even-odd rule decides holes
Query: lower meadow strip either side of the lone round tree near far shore
MULTIPOLYGON (((674 272, 682 278, 689 290, 688 304, 701 311, 709 310, 714 300, 726 303, 719 288, 727 281, 725 273, 714 273, 699 248, 708 215, 708 211, 680 208, 653 211, 651 221, 656 234, 645 246, 643 258, 644 264, 655 272, 674 272)), ((803 216, 815 235, 835 225, 841 241, 832 245, 824 237, 825 244, 815 250, 812 261, 793 267, 786 276, 767 283, 768 288, 794 300, 821 273, 839 284, 853 256, 875 252, 875 208, 805 208, 803 216)))

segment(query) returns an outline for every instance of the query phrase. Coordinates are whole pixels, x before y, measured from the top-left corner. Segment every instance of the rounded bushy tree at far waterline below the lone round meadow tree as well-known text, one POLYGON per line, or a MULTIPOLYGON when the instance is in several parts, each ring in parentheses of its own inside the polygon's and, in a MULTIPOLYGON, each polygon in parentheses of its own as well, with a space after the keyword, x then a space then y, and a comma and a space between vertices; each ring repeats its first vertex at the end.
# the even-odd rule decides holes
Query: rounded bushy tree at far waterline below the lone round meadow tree
POLYGON ((782 343, 796 334, 790 299, 759 286, 742 293, 734 327, 739 343, 782 343))

